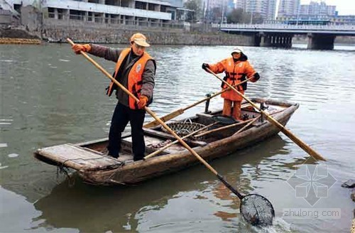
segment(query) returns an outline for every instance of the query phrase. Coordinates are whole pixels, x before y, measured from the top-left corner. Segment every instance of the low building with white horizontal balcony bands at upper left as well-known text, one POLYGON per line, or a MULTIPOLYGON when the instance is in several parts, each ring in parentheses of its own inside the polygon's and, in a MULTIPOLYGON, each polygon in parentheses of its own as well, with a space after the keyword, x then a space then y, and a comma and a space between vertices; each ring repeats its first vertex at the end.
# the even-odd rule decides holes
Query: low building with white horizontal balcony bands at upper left
POLYGON ((178 20, 182 0, 1 0, 19 9, 31 5, 43 12, 43 18, 57 21, 136 24, 154 26, 178 20))

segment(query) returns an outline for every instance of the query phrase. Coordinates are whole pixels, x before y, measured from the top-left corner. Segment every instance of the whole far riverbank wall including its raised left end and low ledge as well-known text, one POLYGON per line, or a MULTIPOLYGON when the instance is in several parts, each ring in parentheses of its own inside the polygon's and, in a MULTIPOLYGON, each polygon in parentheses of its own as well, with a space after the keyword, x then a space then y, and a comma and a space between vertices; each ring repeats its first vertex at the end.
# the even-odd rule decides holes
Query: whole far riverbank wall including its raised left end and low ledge
POLYGON ((222 33, 208 24, 167 23, 153 26, 139 21, 125 24, 60 20, 43 17, 43 12, 32 6, 21 7, 21 25, 22 34, 16 29, 0 30, 0 38, 35 36, 50 43, 66 43, 66 38, 71 38, 76 43, 127 44, 133 33, 140 32, 153 45, 254 45, 253 37, 222 33))

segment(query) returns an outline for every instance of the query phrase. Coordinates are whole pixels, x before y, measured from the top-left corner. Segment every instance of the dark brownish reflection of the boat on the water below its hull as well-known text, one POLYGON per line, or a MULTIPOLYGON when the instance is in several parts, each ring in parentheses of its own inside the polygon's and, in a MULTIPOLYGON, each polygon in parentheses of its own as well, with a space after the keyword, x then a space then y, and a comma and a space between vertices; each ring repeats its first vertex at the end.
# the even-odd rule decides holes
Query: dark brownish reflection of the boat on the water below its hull
MULTIPOLYGON (((237 185, 242 193, 251 193, 251 180, 240 179, 243 167, 246 163, 257 166, 264 159, 274 156, 277 151, 282 151, 285 145, 280 136, 264 143, 272 143, 273 152, 261 157, 253 153, 254 149, 249 148, 239 155, 227 156, 223 161, 218 160, 213 165, 229 183, 237 185)), ((209 170, 203 166, 138 186, 108 188, 84 185, 78 178, 75 181, 74 187, 69 188, 67 180, 53 188, 49 195, 35 202, 35 209, 42 212, 40 216, 33 218, 33 222, 41 222, 38 227, 72 228, 80 229, 81 232, 121 232, 124 229, 145 231, 153 228, 155 231, 164 232, 169 223, 170 226, 176 225, 176 230, 179 231, 181 223, 176 220, 166 222, 169 218, 163 217, 160 212, 168 211, 170 215, 180 216, 182 214, 176 213, 176 210, 169 210, 169 202, 179 202, 182 208, 187 209, 182 211, 190 211, 191 207, 184 204, 188 202, 187 199, 199 202, 195 205, 206 205, 207 211, 220 217, 222 221, 229 220, 229 224, 239 222, 238 197, 215 180, 213 175, 209 175, 209 170), (87 219, 92 221, 88 222, 87 219), (97 224, 98 222, 100 224, 97 224)), ((200 217, 204 218, 200 213, 192 213, 188 219, 198 222, 200 217)), ((208 227, 208 223, 204 224, 208 227)), ((241 225, 246 227, 244 222, 241 222, 241 225)))

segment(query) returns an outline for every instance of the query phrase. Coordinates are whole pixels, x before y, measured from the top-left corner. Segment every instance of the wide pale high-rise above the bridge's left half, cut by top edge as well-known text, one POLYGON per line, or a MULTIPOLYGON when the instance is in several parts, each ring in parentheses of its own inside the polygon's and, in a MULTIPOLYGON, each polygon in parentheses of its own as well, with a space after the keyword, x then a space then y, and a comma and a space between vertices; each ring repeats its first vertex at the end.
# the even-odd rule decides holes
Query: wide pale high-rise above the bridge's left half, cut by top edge
POLYGON ((236 0, 236 9, 260 13, 264 20, 275 19, 276 0, 236 0))

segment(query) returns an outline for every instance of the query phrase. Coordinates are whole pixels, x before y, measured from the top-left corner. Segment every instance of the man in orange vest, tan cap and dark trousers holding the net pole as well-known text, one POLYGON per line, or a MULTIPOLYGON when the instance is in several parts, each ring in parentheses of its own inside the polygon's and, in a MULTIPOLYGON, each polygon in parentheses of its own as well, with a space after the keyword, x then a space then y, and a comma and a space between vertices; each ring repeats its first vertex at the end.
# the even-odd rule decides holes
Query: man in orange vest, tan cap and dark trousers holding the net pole
POLYGON ((106 60, 116 63, 116 70, 113 77, 132 92, 138 99, 137 103, 126 92, 111 82, 107 87, 107 94, 111 96, 116 90, 116 97, 119 102, 114 109, 109 130, 109 156, 119 157, 121 149, 121 133, 128 122, 131 123, 133 160, 143 159, 145 143, 143 136, 143 122, 146 111, 145 106, 151 104, 153 99, 153 88, 155 78, 155 60, 146 53, 146 36, 136 33, 131 36, 130 48, 112 49, 94 44, 75 44, 72 50, 79 54, 84 51, 106 60))

